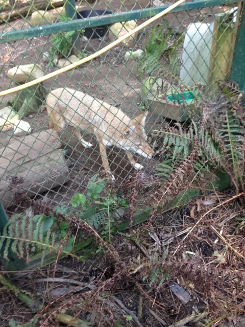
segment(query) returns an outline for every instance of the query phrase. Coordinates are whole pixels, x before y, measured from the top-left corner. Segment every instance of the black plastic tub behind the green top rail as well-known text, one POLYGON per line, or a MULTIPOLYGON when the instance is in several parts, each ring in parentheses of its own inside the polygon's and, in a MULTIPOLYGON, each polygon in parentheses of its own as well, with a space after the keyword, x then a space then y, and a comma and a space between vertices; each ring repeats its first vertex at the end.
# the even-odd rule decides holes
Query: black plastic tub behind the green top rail
MULTIPOLYGON (((89 17, 96 17, 96 16, 104 16, 112 14, 109 10, 97 9, 97 10, 81 10, 78 13, 78 19, 89 18, 89 17)), ((110 25, 98 26, 85 29, 84 36, 87 38, 98 38, 104 36, 110 25)))

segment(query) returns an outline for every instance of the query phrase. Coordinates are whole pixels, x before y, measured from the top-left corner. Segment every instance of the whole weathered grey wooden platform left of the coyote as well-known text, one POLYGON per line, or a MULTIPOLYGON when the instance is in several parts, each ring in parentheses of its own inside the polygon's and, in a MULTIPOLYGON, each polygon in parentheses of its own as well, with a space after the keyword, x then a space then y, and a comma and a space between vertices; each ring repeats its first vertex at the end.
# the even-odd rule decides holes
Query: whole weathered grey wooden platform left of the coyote
POLYGON ((52 129, 13 137, 0 149, 0 199, 5 208, 14 204, 15 194, 34 197, 63 185, 68 174, 59 135, 52 129))

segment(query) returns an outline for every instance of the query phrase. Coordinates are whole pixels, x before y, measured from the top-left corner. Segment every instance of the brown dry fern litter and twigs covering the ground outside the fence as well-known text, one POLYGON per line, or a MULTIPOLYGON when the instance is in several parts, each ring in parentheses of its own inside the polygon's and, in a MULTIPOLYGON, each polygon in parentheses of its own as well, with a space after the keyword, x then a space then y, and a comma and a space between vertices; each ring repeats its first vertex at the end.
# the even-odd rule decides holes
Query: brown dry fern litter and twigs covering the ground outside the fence
MULTIPOLYGON (((109 248, 116 260, 104 252, 86 263, 66 258, 19 273, 13 282, 43 301, 37 313, 41 326, 59 325, 54 317, 60 312, 94 326, 118 321, 156 327, 181 319, 197 326, 193 313, 205 313, 201 318, 209 320, 202 326, 214 326, 227 316, 242 316, 245 309, 245 227, 239 217, 244 217, 241 196, 206 191, 185 206, 158 213, 147 231, 142 225, 115 235, 109 248), (171 291, 173 282, 188 293, 187 303, 171 291)), ((11 318, 30 320, 31 312, 13 295, 12 305, 6 306, 8 290, 3 288, 0 296, 3 325, 11 318)))

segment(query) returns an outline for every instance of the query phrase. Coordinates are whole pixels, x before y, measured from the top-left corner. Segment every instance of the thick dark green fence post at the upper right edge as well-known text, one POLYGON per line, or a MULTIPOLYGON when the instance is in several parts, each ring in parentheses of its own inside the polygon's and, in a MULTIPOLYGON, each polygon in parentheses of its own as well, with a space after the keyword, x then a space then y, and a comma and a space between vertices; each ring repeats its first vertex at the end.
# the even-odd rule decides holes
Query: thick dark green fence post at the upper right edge
POLYGON ((236 82, 245 92, 245 4, 242 4, 230 81, 236 82))

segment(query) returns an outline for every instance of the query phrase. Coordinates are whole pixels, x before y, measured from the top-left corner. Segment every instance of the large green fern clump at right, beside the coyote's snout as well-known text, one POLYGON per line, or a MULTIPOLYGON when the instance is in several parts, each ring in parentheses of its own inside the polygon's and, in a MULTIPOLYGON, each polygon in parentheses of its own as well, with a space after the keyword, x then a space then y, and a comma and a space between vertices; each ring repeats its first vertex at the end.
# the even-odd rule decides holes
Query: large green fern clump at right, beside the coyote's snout
MULTIPOLYGON (((244 96, 242 98, 235 91, 233 90, 235 95, 232 96, 232 103, 222 96, 218 96, 213 102, 204 103, 199 125, 192 121, 188 130, 185 130, 180 124, 176 124, 176 128, 168 127, 167 131, 162 132, 162 150, 158 150, 165 156, 158 167, 161 178, 167 180, 183 163, 188 164, 188 156, 198 138, 198 155, 193 161, 192 173, 202 178, 205 173, 219 168, 229 174, 237 192, 240 189, 244 191, 245 112, 244 106, 242 109, 239 104, 245 103, 245 100, 244 96), (168 150, 167 157, 165 150, 168 150)), ((181 172, 180 169, 179 175, 181 172)))

